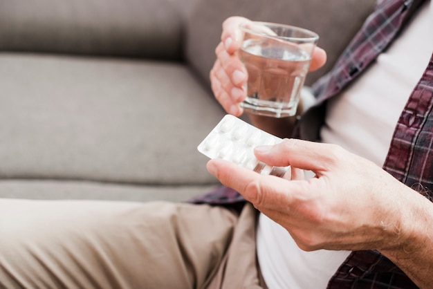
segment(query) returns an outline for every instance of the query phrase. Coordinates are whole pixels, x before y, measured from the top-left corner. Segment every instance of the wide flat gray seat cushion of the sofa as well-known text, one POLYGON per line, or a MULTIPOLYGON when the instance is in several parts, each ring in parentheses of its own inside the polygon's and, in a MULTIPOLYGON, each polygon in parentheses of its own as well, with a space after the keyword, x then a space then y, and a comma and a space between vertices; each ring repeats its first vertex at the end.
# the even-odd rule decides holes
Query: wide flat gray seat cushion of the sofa
POLYGON ((185 66, 0 53, 0 83, 0 178, 216 183, 196 147, 224 113, 185 66))

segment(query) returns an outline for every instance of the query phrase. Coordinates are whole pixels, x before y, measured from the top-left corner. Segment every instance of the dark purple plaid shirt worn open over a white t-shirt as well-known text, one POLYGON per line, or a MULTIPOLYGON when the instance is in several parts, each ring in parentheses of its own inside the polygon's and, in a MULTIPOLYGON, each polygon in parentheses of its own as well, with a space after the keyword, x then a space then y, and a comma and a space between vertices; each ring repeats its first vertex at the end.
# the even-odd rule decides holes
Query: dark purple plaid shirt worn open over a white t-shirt
MULTIPOLYGON (((376 9, 334 68, 313 87, 317 104, 300 119, 295 130, 298 137, 319 140, 326 100, 340 93, 389 46, 403 28, 408 14, 412 14, 412 10, 416 10, 423 1, 378 1, 376 9)), ((433 55, 400 115, 383 169, 433 200, 433 55)), ((234 190, 219 187, 193 201, 232 204, 244 200, 234 190)), ((375 250, 366 250, 352 252, 335 272, 328 288, 417 287, 389 259, 375 250)))

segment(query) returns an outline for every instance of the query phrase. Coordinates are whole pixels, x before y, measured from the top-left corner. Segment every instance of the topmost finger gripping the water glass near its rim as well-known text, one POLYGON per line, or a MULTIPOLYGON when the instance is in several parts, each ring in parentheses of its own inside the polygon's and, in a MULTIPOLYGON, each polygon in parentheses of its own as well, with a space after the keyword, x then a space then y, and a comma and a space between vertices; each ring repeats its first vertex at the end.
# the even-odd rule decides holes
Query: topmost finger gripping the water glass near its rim
POLYGON ((223 22, 223 32, 221 33, 221 42, 229 54, 236 53, 242 44, 242 34, 239 26, 243 23, 251 22, 244 17, 229 17, 223 22))

